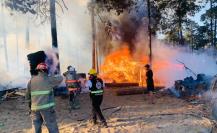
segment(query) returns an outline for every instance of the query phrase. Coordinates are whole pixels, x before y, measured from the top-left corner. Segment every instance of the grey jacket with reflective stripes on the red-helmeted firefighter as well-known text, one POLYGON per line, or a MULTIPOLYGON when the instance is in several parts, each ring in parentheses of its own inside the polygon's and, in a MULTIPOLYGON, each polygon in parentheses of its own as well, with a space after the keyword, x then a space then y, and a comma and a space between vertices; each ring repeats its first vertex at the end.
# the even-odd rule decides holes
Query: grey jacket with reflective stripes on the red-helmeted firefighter
POLYGON ((28 85, 31 110, 38 111, 55 106, 53 88, 62 80, 62 76, 48 76, 46 73, 32 77, 28 85))

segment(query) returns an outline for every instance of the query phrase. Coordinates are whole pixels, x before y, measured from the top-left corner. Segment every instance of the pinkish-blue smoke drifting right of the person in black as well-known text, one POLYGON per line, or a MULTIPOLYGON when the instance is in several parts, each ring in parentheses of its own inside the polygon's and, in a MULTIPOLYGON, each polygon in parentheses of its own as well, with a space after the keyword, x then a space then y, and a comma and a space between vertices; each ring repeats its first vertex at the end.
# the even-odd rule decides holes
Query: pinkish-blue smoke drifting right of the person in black
POLYGON ((168 46, 159 40, 153 41, 153 67, 159 67, 155 76, 164 80, 167 87, 187 76, 196 78, 195 74, 217 74, 215 58, 206 51, 192 52, 188 47, 168 46))

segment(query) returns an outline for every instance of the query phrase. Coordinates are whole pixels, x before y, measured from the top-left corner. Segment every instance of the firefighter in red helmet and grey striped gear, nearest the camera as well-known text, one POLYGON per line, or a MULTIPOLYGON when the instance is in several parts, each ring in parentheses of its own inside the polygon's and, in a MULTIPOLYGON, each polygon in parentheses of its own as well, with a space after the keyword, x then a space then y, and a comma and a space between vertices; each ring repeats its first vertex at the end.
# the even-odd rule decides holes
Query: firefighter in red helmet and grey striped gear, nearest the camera
POLYGON ((48 66, 45 63, 37 65, 38 75, 32 76, 27 85, 26 98, 31 103, 31 119, 35 133, 41 133, 44 123, 49 133, 59 133, 56 115, 53 88, 58 86, 63 77, 48 76, 48 66))

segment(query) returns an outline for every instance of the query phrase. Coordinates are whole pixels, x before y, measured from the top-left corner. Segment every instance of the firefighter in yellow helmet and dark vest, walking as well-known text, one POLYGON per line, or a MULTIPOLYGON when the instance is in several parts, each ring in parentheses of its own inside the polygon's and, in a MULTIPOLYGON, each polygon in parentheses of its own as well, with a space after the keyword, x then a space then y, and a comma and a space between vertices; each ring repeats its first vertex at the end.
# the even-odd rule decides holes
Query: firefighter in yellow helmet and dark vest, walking
POLYGON ((87 81, 87 86, 90 90, 90 98, 92 101, 92 121, 93 124, 97 124, 97 117, 99 117, 101 121, 101 125, 107 128, 106 120, 102 114, 100 109, 100 105, 103 100, 103 88, 104 83, 102 79, 97 77, 97 72, 94 69, 90 69, 89 73, 89 80, 87 81))

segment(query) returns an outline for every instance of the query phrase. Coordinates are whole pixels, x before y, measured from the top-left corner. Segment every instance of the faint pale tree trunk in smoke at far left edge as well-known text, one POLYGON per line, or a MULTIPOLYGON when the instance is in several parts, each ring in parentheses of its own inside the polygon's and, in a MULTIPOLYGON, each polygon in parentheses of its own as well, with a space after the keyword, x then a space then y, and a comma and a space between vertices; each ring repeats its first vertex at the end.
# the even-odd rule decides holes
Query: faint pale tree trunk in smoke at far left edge
POLYGON ((1 3, 1 10, 2 10, 2 34, 3 34, 3 46, 4 46, 4 53, 5 53, 5 64, 6 64, 6 70, 9 70, 9 62, 8 62, 8 49, 7 49, 7 33, 5 31, 5 22, 4 18, 4 0, 2 0, 1 3))

